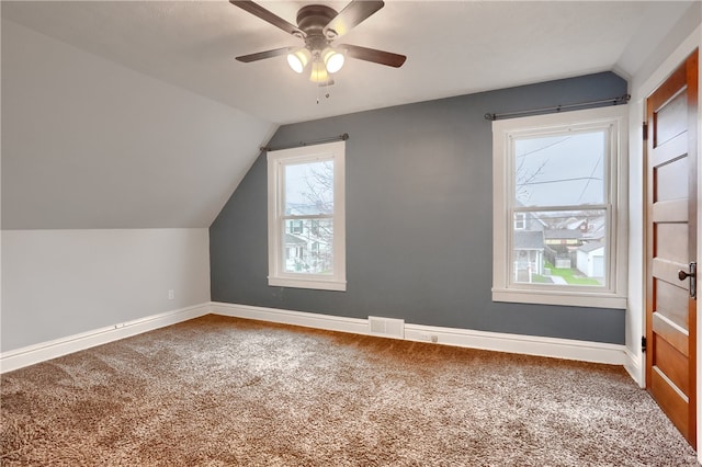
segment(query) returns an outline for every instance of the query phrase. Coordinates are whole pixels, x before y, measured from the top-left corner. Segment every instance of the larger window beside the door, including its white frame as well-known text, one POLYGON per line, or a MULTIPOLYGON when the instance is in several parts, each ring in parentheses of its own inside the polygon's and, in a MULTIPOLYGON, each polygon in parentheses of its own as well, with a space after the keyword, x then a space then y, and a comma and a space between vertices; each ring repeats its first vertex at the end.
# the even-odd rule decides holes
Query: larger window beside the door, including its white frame
POLYGON ((492 123, 492 299, 626 307, 626 106, 492 123))

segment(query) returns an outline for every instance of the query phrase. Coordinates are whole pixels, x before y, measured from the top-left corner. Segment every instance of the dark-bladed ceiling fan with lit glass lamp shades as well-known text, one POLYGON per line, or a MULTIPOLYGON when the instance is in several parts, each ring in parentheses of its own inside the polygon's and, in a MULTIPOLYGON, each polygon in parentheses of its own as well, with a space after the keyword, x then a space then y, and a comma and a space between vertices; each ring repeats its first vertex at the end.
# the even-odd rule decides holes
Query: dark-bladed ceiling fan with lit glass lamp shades
POLYGON ((229 2, 305 42, 301 47, 281 47, 236 57, 239 61, 250 62, 287 55, 287 64, 294 71, 302 73, 307 64, 312 62, 309 80, 328 86, 333 83, 330 75, 341 69, 347 56, 395 68, 401 67, 407 59, 404 55, 375 48, 351 44, 332 45, 335 39, 383 8, 383 1, 352 0, 339 13, 324 4, 309 4, 297 11, 296 26, 253 1, 229 2))

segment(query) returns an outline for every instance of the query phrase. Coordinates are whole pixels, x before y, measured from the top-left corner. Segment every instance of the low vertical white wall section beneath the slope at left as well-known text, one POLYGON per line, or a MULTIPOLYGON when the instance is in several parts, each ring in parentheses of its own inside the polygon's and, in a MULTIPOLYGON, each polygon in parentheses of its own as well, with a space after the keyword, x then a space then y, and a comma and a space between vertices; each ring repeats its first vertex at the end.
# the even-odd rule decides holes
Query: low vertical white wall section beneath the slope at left
POLYGON ((1 352, 210 301, 205 228, 1 236, 1 352))

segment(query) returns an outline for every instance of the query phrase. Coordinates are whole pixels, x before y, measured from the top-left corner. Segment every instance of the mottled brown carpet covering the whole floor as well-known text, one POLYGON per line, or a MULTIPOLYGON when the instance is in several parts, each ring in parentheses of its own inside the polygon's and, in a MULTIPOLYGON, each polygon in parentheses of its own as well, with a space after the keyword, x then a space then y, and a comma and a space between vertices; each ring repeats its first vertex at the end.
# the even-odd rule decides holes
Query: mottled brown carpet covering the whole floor
POLYGON ((206 316, 2 375, 2 466, 695 466, 621 367, 206 316))

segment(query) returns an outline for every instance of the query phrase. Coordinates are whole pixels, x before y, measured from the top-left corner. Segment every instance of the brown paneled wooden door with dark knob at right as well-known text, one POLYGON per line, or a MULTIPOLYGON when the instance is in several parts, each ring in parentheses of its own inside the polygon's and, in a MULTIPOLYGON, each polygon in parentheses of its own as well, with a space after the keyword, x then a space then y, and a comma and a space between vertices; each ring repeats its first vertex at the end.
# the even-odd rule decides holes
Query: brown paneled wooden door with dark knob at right
POLYGON ((697 442, 698 50, 646 100, 646 387, 697 442), (692 271, 693 272, 693 271, 692 271), (692 287, 692 288, 691 288, 692 287))

